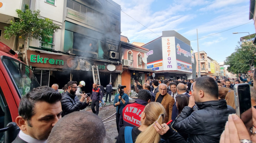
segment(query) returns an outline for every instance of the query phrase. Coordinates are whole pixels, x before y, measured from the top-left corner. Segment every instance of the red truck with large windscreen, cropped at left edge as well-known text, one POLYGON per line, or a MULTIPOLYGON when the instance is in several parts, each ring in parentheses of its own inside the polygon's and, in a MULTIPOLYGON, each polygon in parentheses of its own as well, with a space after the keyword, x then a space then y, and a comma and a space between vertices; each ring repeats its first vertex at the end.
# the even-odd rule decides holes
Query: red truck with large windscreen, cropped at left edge
POLYGON ((40 86, 33 71, 0 42, 0 142, 11 143, 19 133, 15 123, 23 95, 40 86))

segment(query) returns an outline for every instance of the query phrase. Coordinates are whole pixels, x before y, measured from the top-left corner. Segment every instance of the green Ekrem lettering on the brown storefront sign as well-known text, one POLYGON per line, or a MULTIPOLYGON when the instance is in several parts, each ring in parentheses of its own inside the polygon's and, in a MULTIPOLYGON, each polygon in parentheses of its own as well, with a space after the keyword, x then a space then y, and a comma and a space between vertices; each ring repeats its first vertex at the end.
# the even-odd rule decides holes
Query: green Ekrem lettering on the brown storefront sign
POLYGON ((49 59, 49 58, 40 58, 40 55, 30 55, 30 62, 37 62, 37 63, 50 63, 51 65, 55 64, 55 65, 64 65, 64 61, 63 60, 59 60, 59 59, 49 59))

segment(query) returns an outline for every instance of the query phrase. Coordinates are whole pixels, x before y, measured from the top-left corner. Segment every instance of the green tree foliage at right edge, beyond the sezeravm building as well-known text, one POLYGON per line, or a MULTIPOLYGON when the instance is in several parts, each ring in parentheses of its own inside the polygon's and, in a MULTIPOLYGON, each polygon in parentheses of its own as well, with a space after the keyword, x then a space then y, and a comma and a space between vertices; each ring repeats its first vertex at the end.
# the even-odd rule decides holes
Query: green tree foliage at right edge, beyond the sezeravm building
POLYGON ((256 65, 256 45, 252 41, 243 42, 236 51, 224 61, 227 70, 232 74, 247 73, 250 67, 256 65))

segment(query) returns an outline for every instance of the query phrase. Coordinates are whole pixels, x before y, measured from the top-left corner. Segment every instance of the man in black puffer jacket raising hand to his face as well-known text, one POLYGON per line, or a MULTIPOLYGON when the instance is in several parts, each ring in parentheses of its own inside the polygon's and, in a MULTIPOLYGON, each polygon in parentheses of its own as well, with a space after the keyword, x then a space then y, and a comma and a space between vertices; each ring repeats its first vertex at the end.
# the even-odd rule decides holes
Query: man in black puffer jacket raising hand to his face
POLYGON ((236 111, 226 100, 218 100, 218 85, 209 76, 196 78, 191 89, 189 104, 175 120, 174 129, 188 134, 187 143, 220 142, 228 115, 236 111), (199 110, 193 112, 195 104, 199 110))

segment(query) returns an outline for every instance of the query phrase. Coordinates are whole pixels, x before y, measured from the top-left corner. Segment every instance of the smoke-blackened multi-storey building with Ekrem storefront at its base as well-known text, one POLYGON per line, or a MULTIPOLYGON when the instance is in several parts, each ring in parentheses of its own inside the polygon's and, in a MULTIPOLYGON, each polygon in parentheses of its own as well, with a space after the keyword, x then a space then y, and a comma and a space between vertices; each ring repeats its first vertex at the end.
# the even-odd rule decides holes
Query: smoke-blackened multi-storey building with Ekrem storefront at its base
POLYGON ((51 43, 29 43, 28 63, 40 85, 56 83, 60 89, 68 81, 85 81, 82 91, 88 93, 92 91, 94 77, 99 77, 104 87, 112 82, 113 88, 117 88, 122 72, 121 6, 112 0, 63 0, 39 1, 31 9, 44 14, 42 6, 56 10, 52 20, 61 18, 54 21, 61 29, 51 35, 51 43), (58 8, 63 9, 62 13, 57 13, 58 8), (93 66, 98 67, 99 75, 93 74, 93 66))

